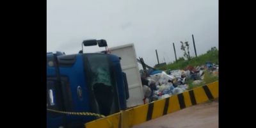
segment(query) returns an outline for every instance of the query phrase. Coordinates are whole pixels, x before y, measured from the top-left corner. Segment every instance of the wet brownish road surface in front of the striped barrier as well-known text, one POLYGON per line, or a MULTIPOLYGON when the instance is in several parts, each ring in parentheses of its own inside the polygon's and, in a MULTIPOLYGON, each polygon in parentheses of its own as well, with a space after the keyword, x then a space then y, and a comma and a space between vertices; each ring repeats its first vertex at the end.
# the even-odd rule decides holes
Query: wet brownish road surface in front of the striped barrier
POLYGON ((207 102, 161 116, 132 128, 218 128, 219 102, 207 102))

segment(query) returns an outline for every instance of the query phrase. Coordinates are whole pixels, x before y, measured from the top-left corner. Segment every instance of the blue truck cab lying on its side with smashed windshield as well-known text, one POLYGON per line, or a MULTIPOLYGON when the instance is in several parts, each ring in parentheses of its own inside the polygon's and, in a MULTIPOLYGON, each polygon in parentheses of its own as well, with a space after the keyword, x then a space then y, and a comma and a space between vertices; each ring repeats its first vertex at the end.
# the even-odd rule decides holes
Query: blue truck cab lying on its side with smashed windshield
MULTIPOLYGON (((127 89, 118 56, 47 52, 47 109, 108 116, 127 108, 127 89)), ((47 127, 84 127, 97 118, 47 111, 47 127)))

